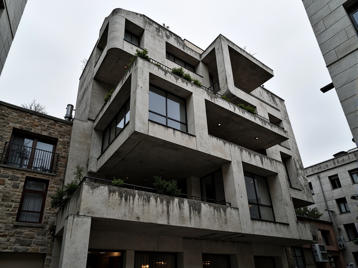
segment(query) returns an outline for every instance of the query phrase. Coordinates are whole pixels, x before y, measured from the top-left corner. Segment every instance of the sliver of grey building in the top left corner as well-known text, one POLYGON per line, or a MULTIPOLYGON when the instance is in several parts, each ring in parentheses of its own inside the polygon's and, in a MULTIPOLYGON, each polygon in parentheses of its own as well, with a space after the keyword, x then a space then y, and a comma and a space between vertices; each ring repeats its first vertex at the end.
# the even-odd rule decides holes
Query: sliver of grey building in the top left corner
POLYGON ((27 0, 0 0, 0 75, 27 0))

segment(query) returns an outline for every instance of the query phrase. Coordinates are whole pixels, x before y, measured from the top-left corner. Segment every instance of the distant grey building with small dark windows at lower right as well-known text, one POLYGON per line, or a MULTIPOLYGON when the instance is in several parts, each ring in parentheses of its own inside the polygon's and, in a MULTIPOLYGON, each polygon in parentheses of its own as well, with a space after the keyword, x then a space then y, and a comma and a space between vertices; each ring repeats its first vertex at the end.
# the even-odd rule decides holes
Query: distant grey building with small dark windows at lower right
POLYGON ((351 199, 358 192, 358 149, 339 152, 322 163, 305 168, 312 196, 321 220, 331 221, 336 239, 343 236, 346 263, 358 266, 358 249, 353 240, 358 238, 357 200, 351 199))

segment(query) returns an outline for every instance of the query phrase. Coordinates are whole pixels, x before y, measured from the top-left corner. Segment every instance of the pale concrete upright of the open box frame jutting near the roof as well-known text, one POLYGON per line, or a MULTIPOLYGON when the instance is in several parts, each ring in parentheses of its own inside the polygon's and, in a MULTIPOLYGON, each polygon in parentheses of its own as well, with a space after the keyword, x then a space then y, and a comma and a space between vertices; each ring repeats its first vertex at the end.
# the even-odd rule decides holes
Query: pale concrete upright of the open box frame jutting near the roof
POLYGON ((227 92, 235 95, 234 78, 231 69, 229 48, 226 43, 221 40, 215 46, 216 62, 218 66, 218 75, 220 83, 220 94, 227 92))

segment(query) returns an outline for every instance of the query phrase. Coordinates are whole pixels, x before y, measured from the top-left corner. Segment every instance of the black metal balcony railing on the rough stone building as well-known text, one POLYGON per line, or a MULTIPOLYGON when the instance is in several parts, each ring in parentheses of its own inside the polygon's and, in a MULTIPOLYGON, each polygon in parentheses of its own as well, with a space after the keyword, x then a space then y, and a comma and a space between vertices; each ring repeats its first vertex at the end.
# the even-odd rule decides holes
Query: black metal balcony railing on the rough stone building
POLYGON ((58 153, 5 142, 0 163, 8 166, 56 173, 58 153))

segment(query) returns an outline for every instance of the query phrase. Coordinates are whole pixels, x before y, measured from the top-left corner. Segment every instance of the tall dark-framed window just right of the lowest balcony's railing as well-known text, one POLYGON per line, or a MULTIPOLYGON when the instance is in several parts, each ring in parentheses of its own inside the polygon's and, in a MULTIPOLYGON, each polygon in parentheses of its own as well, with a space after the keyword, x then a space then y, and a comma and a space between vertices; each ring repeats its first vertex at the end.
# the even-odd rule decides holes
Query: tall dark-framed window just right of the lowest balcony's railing
POLYGON ((267 178, 244 172, 250 216, 254 219, 275 221, 267 178))

